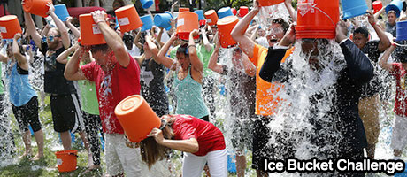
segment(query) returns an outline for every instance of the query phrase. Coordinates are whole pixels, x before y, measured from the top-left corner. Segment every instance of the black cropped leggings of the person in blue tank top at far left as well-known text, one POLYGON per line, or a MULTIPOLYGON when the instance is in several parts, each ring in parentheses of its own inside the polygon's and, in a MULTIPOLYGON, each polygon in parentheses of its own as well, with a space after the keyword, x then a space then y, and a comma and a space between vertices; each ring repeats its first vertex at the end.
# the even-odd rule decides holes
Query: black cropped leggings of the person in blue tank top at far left
POLYGON ((31 126, 34 132, 41 130, 41 122, 38 117, 37 96, 33 96, 27 104, 21 106, 12 105, 12 112, 19 123, 19 129, 21 131, 28 131, 28 126, 31 126))

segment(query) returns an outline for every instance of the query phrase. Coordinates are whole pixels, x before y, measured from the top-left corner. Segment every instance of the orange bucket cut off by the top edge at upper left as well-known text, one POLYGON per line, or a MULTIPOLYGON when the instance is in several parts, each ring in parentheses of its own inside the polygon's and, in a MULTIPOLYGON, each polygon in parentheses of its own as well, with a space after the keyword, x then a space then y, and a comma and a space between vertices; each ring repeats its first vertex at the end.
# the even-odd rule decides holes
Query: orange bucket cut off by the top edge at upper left
POLYGON ((23 9, 25 12, 39 15, 45 18, 48 16, 48 3, 52 4, 52 0, 25 0, 23 9))

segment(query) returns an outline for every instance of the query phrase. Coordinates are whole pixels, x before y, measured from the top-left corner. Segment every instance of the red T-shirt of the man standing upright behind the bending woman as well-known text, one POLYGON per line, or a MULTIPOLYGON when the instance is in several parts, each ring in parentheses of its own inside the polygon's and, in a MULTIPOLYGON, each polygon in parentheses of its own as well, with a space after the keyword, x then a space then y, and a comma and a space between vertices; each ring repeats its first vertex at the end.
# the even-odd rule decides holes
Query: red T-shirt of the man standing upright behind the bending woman
MULTIPOLYGON (((107 55, 108 58, 115 58, 113 51, 107 55)), ((114 109, 127 96, 140 94, 140 67, 130 55, 129 58, 127 67, 116 62, 108 72, 104 72, 95 61, 81 66, 85 77, 95 81, 102 127, 107 134, 124 133, 114 109)))

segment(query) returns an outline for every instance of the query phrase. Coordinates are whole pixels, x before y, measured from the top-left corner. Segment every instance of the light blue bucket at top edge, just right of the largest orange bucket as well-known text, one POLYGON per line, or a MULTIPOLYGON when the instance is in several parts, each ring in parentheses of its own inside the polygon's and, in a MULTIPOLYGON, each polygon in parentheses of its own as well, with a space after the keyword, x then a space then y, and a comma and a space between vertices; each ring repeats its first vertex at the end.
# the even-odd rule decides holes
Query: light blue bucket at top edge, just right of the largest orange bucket
POLYGON ((343 18, 350 19, 366 13, 369 9, 365 0, 341 0, 343 18))

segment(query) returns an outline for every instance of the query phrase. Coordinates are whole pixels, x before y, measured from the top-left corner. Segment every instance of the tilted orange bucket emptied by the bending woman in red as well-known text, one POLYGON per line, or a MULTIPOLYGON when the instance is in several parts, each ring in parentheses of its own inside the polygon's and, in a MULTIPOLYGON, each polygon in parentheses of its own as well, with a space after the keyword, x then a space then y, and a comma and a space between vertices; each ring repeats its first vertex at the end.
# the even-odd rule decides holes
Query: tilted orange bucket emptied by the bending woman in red
POLYGON ((153 128, 159 128, 161 125, 161 119, 140 95, 123 99, 114 109, 114 113, 130 142, 142 142, 153 128))

